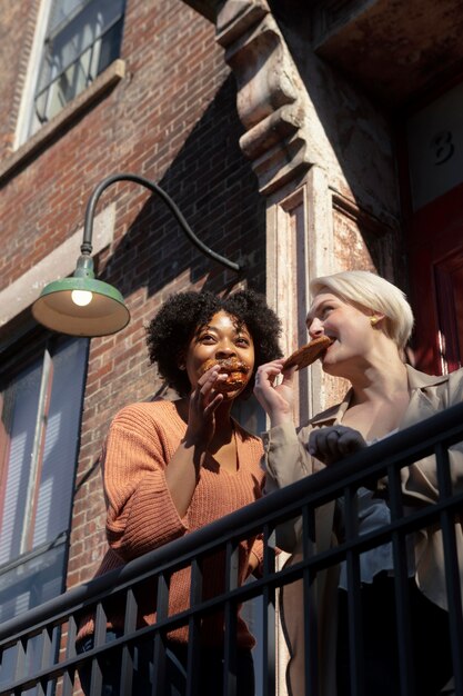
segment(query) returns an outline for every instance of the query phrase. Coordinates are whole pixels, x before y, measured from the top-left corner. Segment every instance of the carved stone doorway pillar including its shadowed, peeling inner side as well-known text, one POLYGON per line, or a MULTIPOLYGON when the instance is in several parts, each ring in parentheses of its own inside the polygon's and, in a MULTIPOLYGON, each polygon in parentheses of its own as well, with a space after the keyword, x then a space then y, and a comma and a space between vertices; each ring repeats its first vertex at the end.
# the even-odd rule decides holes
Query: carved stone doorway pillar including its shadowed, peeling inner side
MULTIPOLYGON (((308 340, 310 279, 348 268, 393 279, 399 229, 387 119, 309 42, 289 36, 293 52, 265 0, 219 6, 217 40, 236 79, 244 126, 240 147, 266 202, 266 295, 282 318, 286 355, 308 340)), ((335 402, 345 386, 322 379, 320 364, 303 370, 295 421, 335 402)), ((281 695, 286 659, 279 635, 281 695)))

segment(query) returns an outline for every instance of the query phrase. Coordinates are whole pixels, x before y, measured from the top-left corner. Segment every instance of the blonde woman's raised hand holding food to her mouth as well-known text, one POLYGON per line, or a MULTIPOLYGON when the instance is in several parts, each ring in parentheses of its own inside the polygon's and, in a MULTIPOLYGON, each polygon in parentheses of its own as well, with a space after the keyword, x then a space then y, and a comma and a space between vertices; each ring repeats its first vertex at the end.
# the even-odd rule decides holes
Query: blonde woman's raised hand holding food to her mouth
POLYGON ((272 427, 292 420, 295 367, 283 370, 284 358, 261 365, 255 374, 254 395, 270 417, 272 427), (283 379, 275 384, 279 375, 283 379))

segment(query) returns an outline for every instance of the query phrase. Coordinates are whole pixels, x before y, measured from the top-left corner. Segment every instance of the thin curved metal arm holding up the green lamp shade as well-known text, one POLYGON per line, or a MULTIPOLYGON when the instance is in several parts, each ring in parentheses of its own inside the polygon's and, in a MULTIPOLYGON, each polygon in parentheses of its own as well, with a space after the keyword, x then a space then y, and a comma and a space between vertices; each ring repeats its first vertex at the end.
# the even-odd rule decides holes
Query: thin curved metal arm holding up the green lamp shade
POLYGON ((225 257, 221 256, 217 251, 213 251, 212 249, 207 247, 201 241, 201 239, 198 239, 198 237, 195 236, 195 233, 193 232, 193 230, 191 229, 191 227, 189 226, 189 223, 187 222, 187 220, 184 219, 184 217, 182 216, 182 213, 180 212, 179 208, 175 206, 171 197, 168 196, 168 193, 165 193, 165 191, 162 190, 161 187, 158 186, 158 183, 154 183, 154 181, 150 181, 149 179, 145 179, 144 177, 140 177, 138 175, 132 175, 132 173, 111 175, 110 177, 107 177, 105 179, 103 179, 101 183, 99 183, 98 187, 94 189, 93 193, 91 195, 89 199, 89 202, 87 203, 85 221, 84 221, 84 227, 83 227, 83 241, 80 248, 82 255, 87 256, 92 252, 93 217, 94 217, 94 209, 97 207, 98 200, 101 193, 109 186, 111 186, 112 183, 115 183, 117 181, 133 181, 134 183, 140 183, 141 186, 144 186, 152 193, 157 193, 160 198, 162 198, 164 203, 171 210, 177 221, 179 222, 180 227, 182 228, 183 232, 187 235, 190 241, 200 251, 205 253, 205 256, 209 256, 211 259, 219 261, 219 264, 222 264, 222 266, 230 268, 231 270, 234 270, 236 272, 242 270, 242 267, 239 264, 235 264, 234 261, 230 261, 229 259, 225 259, 225 257))

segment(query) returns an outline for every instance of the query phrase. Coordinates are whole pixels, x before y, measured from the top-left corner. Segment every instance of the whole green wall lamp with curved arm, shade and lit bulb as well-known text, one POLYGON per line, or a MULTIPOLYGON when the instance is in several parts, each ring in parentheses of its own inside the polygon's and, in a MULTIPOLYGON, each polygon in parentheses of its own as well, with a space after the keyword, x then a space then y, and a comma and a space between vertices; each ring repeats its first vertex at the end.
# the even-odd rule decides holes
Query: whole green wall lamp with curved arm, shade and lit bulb
POLYGON ((183 232, 198 249, 231 270, 236 272, 241 270, 239 264, 212 251, 198 239, 173 200, 157 183, 138 175, 115 173, 103 179, 89 199, 83 241, 80 247, 81 256, 73 275, 47 285, 32 305, 34 319, 49 329, 71 336, 108 336, 120 331, 130 321, 130 314, 122 295, 108 282, 95 279, 91 258, 97 202, 104 189, 117 181, 133 181, 160 196, 173 212, 183 232))

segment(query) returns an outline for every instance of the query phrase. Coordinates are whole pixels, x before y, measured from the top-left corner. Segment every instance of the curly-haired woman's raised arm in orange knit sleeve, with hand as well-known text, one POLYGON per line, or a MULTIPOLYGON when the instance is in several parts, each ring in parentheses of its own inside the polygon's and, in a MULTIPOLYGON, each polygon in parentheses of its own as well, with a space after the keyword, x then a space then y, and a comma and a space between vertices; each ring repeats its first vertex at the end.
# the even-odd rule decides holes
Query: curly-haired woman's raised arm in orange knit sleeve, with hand
POLYGON ((215 409, 223 395, 214 391, 227 378, 214 366, 199 379, 189 401, 185 436, 175 447, 167 432, 169 410, 157 422, 143 404, 120 411, 111 424, 103 458, 107 535, 124 559, 134 558, 182 536, 200 468, 214 435, 215 409))

